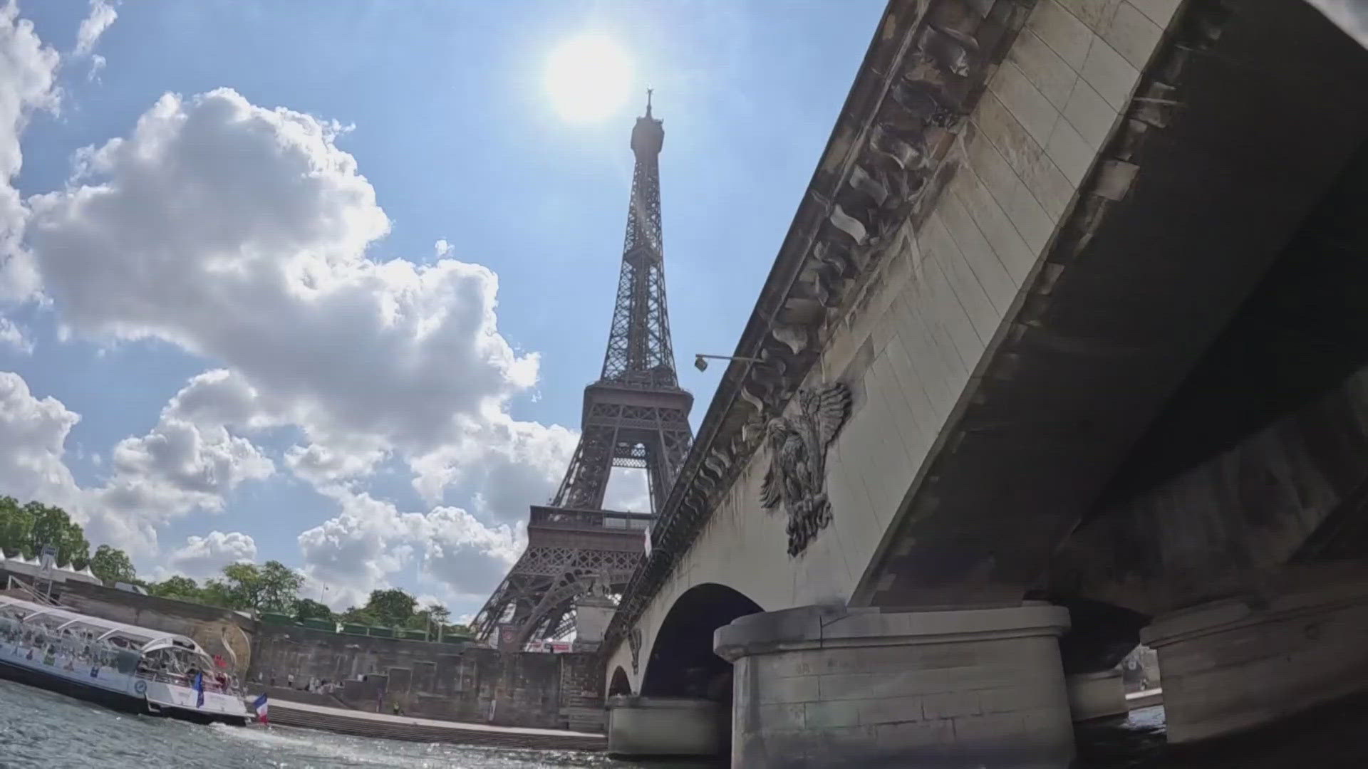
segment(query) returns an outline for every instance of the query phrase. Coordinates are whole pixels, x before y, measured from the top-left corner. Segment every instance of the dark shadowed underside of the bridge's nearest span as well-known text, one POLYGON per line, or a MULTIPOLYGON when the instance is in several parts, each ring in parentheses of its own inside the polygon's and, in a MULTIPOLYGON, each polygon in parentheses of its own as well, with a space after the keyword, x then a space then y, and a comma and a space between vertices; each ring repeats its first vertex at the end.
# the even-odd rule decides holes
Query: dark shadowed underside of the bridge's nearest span
POLYGON ((1238 439, 1361 357, 1356 333, 1323 335, 1352 328, 1349 316, 1308 309, 1356 307, 1324 290, 1349 290, 1342 278, 1361 268, 1347 255, 1364 250, 1346 238, 1360 235, 1330 242, 1317 218, 1353 219, 1361 185, 1346 168, 1368 137, 1356 96, 1368 92, 1368 56, 1304 3, 1193 4, 1172 34, 854 603, 1045 592, 1052 554, 1104 490, 1123 494, 1238 439), (1319 278, 1305 267, 1312 252, 1327 263, 1319 278), (1227 327, 1231 341, 1212 348, 1227 327), (1302 371, 1311 342, 1339 352, 1302 371))

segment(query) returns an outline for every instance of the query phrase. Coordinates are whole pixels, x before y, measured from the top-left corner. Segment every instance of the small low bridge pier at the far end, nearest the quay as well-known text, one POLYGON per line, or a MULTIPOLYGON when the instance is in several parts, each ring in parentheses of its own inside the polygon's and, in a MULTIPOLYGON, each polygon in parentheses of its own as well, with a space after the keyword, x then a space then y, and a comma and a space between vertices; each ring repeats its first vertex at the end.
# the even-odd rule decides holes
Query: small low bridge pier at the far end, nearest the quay
POLYGON ((692 696, 607 698, 614 758, 715 758, 726 753, 724 705, 692 696))

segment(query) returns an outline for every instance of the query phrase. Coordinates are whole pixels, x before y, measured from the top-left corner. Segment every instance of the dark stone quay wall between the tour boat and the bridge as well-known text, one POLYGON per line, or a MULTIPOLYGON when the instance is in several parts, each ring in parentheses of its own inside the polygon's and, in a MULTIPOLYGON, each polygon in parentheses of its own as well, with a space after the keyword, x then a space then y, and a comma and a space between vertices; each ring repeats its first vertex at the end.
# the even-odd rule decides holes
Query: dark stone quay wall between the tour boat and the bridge
MULTIPOLYGON (((503 727, 602 729, 603 673, 594 654, 501 653, 260 625, 248 679, 295 687, 338 683, 337 703, 386 713, 503 727)), ((278 688, 275 691, 279 691, 278 688)), ((283 695, 282 695, 283 696, 283 695)))

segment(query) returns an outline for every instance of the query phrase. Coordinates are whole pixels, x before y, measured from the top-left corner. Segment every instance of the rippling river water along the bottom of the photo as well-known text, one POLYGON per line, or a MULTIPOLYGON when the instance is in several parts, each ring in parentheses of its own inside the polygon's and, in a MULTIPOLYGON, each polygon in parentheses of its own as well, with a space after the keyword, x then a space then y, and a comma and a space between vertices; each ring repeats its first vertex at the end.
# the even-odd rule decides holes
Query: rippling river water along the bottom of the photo
MULTIPOLYGON (((1276 731, 1200 753, 1164 747, 1163 709, 1078 729, 1075 769, 1364 769, 1368 702, 1341 703, 1276 731)), ((518 751, 349 738, 272 727, 201 727, 115 713, 0 680, 3 769, 643 769, 572 751, 518 751)), ((699 765, 670 764, 670 769, 699 765)), ((757 768, 762 769, 762 768, 757 768)), ((915 769, 915 768, 910 768, 915 769)))

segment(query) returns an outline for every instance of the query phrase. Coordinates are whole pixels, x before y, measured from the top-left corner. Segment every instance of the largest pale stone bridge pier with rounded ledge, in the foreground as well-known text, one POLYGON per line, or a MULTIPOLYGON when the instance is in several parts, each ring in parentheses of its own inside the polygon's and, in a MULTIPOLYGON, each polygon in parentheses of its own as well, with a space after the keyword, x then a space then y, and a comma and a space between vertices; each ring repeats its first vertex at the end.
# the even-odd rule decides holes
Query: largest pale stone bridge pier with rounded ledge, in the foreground
POLYGON ((714 635, 735 665, 732 766, 1062 769, 1067 628, 1067 610, 1038 602, 740 617, 714 635))

